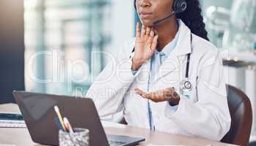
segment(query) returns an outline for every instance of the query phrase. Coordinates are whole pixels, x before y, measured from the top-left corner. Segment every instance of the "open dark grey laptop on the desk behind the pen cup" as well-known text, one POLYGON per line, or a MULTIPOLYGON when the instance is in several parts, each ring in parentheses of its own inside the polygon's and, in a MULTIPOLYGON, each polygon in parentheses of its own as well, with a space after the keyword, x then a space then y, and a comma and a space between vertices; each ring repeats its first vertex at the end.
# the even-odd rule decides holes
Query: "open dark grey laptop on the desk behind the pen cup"
POLYGON ((145 141, 139 137, 106 135, 92 99, 25 91, 13 91, 13 95, 34 142, 59 145, 59 128, 54 123, 55 105, 73 128, 89 129, 90 146, 129 146, 145 141))

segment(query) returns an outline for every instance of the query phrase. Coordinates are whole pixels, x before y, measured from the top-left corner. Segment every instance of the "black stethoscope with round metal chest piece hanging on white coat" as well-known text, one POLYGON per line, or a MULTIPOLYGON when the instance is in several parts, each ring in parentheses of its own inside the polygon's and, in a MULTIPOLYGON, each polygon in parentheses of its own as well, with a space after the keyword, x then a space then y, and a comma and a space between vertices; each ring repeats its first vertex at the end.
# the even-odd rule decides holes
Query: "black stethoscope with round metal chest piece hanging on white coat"
MULTIPOLYGON (((191 35, 191 47, 192 47, 192 34, 191 35)), ((192 50, 192 49, 191 49, 192 50)), ((134 53, 135 51, 135 47, 134 50, 131 53, 134 53)), ((185 74, 185 78, 183 80, 180 81, 180 91, 182 93, 188 93, 189 91, 192 90, 192 84, 189 80, 189 62, 190 62, 190 57, 191 57, 191 53, 187 54, 187 61, 186 61, 186 74, 185 74)), ((131 58, 131 55, 130 55, 131 58)))

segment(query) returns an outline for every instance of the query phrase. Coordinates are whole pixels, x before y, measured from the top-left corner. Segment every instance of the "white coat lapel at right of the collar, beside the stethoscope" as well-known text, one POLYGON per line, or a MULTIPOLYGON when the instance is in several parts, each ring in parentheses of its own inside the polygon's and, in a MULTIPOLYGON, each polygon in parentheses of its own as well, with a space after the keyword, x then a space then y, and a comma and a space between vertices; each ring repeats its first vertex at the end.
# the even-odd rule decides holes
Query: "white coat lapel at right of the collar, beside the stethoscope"
POLYGON ((178 72, 179 67, 182 67, 180 63, 183 62, 184 56, 191 53, 191 31, 183 22, 180 23, 180 27, 177 45, 159 68, 158 76, 154 82, 157 82, 170 72, 178 72))

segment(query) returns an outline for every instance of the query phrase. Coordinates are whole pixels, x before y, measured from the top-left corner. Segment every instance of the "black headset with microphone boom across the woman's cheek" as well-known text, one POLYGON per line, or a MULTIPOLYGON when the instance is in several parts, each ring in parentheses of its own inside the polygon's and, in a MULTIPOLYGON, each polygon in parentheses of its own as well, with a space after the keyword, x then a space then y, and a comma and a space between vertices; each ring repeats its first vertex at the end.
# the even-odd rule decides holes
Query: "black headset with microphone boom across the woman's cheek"
MULTIPOLYGON (((136 9, 136 0, 134 0, 134 7, 136 9)), ((172 12, 169 15, 167 15, 165 18, 156 20, 155 22, 153 22, 153 26, 163 23, 165 20, 168 20, 169 18, 171 18, 172 15, 186 11, 186 7, 187 7, 186 0, 173 0, 172 12)))

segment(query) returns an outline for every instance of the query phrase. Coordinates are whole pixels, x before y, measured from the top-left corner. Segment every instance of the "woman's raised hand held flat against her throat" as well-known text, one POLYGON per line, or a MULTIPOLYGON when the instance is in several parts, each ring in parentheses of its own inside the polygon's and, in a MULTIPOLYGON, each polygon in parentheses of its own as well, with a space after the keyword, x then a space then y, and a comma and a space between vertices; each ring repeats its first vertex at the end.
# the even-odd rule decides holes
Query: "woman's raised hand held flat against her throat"
POLYGON ((132 58, 132 70, 139 69, 143 63, 150 59, 156 51, 158 35, 155 36, 153 28, 142 26, 140 30, 139 23, 136 24, 136 42, 134 57, 132 58))

